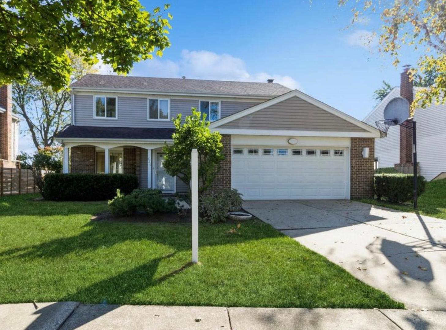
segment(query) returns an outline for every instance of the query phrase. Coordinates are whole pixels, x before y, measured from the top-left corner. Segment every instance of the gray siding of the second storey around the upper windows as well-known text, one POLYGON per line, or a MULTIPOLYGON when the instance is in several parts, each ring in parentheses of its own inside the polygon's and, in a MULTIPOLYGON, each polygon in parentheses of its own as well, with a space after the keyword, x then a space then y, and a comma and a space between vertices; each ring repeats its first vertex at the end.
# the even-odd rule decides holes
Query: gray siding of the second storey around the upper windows
MULTIPOLYGON (((221 116, 255 106, 257 102, 221 101, 221 116)), ((198 99, 170 98, 170 118, 182 113, 183 118, 198 109, 198 99)), ((147 120, 147 98, 118 96, 118 118, 94 118, 93 95, 74 95, 74 125, 105 127, 173 128, 171 121, 147 120)))

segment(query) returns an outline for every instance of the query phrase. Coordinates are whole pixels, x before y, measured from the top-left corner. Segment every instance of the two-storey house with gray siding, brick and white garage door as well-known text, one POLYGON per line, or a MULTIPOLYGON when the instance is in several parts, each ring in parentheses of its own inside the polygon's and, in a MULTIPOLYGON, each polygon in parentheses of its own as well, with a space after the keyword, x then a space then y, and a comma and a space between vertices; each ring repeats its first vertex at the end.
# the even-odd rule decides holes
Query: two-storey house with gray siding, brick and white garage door
POLYGON ((194 107, 222 134, 214 191, 236 188, 247 200, 373 195, 379 131, 272 80, 88 74, 71 87, 72 125, 58 135, 66 173, 132 173, 140 187, 187 192, 165 172, 162 147, 173 143, 171 119, 194 107))

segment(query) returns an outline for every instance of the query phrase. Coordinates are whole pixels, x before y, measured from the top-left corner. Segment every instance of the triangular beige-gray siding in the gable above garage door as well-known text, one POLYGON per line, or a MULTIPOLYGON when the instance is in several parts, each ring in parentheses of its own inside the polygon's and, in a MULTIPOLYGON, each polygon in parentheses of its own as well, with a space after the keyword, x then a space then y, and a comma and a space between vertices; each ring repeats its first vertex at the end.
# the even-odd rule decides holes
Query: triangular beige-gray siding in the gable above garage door
POLYGON ((220 127, 259 130, 365 131, 298 97, 268 106, 220 127))

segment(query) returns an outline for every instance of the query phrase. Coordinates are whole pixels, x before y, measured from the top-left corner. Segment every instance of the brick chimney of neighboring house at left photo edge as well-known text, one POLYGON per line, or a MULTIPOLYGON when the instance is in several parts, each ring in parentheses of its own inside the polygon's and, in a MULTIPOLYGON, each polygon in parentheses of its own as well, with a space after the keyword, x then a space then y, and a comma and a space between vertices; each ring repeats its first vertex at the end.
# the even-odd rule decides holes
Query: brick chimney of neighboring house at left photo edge
POLYGON ((12 86, 0 87, 0 159, 12 159, 12 86), (4 111, 3 111, 4 110, 4 111))

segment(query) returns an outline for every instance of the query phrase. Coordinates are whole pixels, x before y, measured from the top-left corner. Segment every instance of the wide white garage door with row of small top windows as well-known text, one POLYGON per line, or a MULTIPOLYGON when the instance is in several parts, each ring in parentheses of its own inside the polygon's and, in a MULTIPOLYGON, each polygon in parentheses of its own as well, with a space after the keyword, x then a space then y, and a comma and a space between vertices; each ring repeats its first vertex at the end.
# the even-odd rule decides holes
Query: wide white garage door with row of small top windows
POLYGON ((345 199, 347 150, 233 146, 231 177, 244 200, 345 199))

